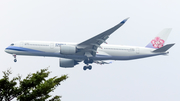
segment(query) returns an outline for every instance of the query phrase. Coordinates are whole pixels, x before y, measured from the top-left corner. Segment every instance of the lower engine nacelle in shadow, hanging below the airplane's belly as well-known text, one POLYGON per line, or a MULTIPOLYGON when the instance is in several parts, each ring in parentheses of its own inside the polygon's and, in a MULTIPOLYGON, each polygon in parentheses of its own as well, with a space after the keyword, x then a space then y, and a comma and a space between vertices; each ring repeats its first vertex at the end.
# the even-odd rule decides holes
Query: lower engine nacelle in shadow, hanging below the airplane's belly
POLYGON ((64 58, 59 59, 59 66, 60 67, 72 68, 76 64, 77 64, 77 62, 73 59, 64 59, 64 58))

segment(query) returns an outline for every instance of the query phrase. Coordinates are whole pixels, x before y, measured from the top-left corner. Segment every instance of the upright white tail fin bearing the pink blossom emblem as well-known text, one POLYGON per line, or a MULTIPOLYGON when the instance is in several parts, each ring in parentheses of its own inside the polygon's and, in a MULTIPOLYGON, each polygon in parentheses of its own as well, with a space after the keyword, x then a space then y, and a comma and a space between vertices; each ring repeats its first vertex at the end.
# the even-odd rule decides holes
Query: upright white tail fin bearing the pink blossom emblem
POLYGON ((163 47, 171 30, 171 28, 163 29, 146 47, 154 49, 163 47))

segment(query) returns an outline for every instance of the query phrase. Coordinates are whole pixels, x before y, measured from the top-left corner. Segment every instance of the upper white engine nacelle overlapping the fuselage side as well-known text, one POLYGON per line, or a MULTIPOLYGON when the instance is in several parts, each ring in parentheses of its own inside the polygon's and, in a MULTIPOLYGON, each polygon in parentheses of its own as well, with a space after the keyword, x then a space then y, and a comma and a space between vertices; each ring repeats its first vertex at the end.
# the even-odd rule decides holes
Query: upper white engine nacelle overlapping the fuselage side
POLYGON ((61 45, 60 53, 64 55, 72 55, 76 53, 76 46, 61 45))

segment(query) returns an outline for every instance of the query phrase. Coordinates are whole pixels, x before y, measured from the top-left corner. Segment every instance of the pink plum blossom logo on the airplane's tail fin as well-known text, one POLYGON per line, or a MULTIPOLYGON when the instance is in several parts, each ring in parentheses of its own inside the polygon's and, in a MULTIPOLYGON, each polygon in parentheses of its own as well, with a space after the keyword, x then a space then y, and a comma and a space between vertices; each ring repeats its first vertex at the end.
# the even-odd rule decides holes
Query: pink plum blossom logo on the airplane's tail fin
POLYGON ((165 41, 163 39, 160 39, 160 37, 156 37, 155 39, 153 39, 151 41, 154 48, 161 48, 163 46, 164 42, 165 41))

